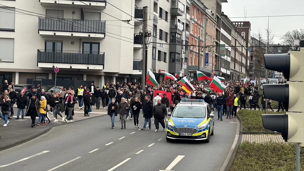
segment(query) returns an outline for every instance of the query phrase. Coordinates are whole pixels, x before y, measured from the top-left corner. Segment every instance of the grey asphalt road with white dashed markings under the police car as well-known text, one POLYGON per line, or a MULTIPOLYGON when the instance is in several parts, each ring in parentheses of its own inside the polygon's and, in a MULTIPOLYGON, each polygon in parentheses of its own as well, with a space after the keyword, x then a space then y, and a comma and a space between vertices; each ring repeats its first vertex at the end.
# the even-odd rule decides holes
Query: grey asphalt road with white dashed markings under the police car
MULTIPOLYGON (((1 151, 0 170, 215 171, 222 167, 237 130, 236 119, 225 118, 215 120, 209 143, 167 142, 165 132, 154 132, 154 123, 152 130, 142 131, 128 120, 127 128, 120 129, 117 119, 114 129, 109 116, 54 127, 1 151)), ((139 122, 142 126, 142 117, 139 122)))

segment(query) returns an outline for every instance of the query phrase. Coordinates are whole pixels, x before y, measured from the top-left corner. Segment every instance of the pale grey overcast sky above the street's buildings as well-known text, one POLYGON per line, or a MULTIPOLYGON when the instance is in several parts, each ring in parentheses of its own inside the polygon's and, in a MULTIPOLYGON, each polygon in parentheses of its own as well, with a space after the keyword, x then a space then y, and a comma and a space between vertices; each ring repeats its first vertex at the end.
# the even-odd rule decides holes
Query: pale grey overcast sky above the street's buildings
MULTIPOLYGON (((222 11, 231 21, 244 21, 244 7, 247 9, 246 21, 251 23, 251 34, 260 33, 266 37, 265 28, 268 17, 250 16, 304 15, 304 0, 227 0, 222 3, 222 11), (240 17, 240 18, 232 18, 240 17)), ((274 34, 275 44, 281 43, 280 36, 287 31, 304 28, 304 16, 269 17, 269 28, 274 34)))

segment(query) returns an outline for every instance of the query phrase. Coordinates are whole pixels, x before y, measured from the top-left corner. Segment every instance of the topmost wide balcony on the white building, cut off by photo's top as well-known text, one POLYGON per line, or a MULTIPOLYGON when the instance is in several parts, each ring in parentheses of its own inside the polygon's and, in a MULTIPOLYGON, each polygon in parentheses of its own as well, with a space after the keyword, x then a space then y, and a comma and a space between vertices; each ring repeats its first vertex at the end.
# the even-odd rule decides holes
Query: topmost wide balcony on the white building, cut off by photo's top
MULTIPOLYGON (((38 1, 38 0, 37 0, 38 1)), ((42 6, 105 9, 106 0, 39 0, 42 6)))

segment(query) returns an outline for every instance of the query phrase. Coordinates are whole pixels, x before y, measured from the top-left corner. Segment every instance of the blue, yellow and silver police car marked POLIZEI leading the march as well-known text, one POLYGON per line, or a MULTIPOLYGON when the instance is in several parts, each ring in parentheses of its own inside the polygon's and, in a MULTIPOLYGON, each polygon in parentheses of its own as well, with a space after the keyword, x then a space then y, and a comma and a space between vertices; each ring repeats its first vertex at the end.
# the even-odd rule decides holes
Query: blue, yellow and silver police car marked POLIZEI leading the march
POLYGON ((214 133, 214 114, 204 100, 181 99, 166 126, 166 140, 197 140, 209 142, 214 133))

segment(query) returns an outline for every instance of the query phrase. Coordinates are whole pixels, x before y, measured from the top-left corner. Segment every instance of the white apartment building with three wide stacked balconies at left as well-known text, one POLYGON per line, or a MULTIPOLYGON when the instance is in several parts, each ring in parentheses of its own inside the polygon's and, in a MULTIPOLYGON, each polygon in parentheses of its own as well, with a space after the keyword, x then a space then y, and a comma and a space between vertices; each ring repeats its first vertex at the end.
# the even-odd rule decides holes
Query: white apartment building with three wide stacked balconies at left
POLYGON ((133 73, 134 21, 120 21, 134 13, 130 1, 0 2, 0 74, 15 84, 54 79, 54 67, 57 79, 96 86, 126 82, 133 73))

